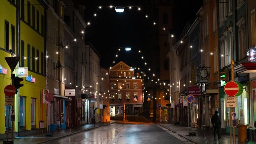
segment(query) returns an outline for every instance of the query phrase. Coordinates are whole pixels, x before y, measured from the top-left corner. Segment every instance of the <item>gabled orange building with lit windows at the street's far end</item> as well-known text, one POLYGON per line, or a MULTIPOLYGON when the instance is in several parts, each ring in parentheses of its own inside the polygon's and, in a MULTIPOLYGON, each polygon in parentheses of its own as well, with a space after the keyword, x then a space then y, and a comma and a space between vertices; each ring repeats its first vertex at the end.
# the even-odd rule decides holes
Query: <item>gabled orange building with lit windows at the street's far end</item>
POLYGON ((143 79, 130 68, 121 61, 109 69, 110 116, 124 115, 124 104, 128 115, 142 112, 143 79))

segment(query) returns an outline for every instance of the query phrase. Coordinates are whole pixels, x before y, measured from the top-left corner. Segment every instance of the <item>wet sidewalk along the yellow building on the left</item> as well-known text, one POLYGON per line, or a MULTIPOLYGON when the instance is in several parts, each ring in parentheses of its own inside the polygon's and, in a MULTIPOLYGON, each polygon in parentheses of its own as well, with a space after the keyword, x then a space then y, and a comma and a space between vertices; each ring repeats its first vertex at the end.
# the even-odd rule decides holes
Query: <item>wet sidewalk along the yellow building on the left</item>
MULTIPOLYGON (((90 130, 93 128, 98 128, 101 126, 106 126, 108 124, 112 124, 114 122, 110 122, 110 123, 102 123, 102 124, 85 124, 84 126, 79 126, 76 128, 68 128, 66 130, 56 130, 54 132, 51 132, 51 134, 53 135, 53 137, 45 137, 46 133, 38 133, 38 134, 34 134, 34 135, 28 135, 28 136, 22 136, 22 137, 15 137, 14 138, 14 144, 41 144, 44 142, 48 142, 50 140, 54 140, 57 138, 62 138, 65 136, 69 136, 72 134, 76 134, 78 132, 83 132, 86 130, 90 130)), ((6 139, 3 139, 6 140, 6 139)), ((0 144, 2 144, 3 140, 0 140, 0 144)), ((11 140, 11 139, 9 139, 11 140)))

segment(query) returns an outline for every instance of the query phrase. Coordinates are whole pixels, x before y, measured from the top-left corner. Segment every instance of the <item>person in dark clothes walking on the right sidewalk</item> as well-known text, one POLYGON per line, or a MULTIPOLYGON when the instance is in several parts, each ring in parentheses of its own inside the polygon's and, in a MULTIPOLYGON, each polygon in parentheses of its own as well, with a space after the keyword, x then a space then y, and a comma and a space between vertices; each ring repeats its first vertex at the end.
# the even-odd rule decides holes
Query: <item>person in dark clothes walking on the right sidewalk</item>
POLYGON ((220 139, 220 126, 221 126, 221 121, 220 121, 220 116, 219 112, 215 111, 214 115, 211 118, 212 126, 213 126, 213 136, 214 138, 216 137, 216 131, 218 134, 218 139, 220 139))

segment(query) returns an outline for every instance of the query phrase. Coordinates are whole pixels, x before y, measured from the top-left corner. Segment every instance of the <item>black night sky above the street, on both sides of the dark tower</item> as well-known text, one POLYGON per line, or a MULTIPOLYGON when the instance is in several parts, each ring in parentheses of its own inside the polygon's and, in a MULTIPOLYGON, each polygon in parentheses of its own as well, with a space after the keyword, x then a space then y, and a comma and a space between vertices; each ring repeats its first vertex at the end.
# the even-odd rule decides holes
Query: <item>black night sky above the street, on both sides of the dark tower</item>
MULTIPOLYGON (((176 35, 179 35, 189 20, 196 18, 196 12, 202 6, 202 0, 175 0, 173 26, 176 35)), ((142 50, 144 57, 147 56, 147 33, 152 30, 152 16, 145 18, 145 14, 138 11, 138 8, 129 10, 125 7, 123 13, 115 12, 114 8, 106 6, 140 6, 142 10, 150 13, 150 0, 86 0, 85 21, 90 21, 90 26, 86 28, 86 42, 91 42, 101 56, 101 65, 109 68, 113 65, 118 47, 130 46, 131 52, 120 51, 118 59, 127 62, 128 65, 135 66, 140 60, 138 50, 142 50), (97 16, 93 14, 98 6, 103 6, 97 11, 97 16), (105 7, 104 7, 105 6, 105 7)), ((122 48, 121 48, 122 49, 122 48)), ((138 67, 138 64, 137 64, 138 67)))

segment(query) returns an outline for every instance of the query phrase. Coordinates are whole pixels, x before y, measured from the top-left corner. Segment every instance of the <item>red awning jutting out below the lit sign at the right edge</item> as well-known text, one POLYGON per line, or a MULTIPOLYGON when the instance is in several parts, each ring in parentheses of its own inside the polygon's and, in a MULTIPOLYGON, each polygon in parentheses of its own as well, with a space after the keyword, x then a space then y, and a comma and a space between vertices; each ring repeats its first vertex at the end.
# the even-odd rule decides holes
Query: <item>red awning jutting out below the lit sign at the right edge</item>
POLYGON ((234 70, 237 73, 256 73, 256 62, 242 62, 241 64, 234 66, 234 70))

